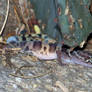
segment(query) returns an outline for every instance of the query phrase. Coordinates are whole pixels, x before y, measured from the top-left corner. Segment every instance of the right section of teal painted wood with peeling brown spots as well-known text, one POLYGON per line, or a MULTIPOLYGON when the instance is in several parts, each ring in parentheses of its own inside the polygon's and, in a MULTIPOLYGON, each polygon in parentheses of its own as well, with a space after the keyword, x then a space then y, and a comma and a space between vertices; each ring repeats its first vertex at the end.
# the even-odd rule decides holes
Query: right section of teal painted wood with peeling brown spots
POLYGON ((71 47, 80 45, 81 42, 87 40, 87 37, 92 32, 92 16, 89 13, 89 0, 63 0, 68 1, 69 11, 74 18, 74 30, 70 30, 71 25, 68 21, 69 15, 65 15, 66 2, 58 0, 62 8, 62 14, 59 16, 61 32, 63 34, 64 43, 71 47), (81 2, 80 2, 81 1, 81 2), (82 20, 83 28, 80 28, 78 20, 82 20), (64 38, 64 36, 68 36, 64 38))

